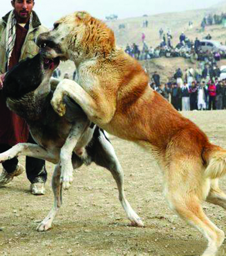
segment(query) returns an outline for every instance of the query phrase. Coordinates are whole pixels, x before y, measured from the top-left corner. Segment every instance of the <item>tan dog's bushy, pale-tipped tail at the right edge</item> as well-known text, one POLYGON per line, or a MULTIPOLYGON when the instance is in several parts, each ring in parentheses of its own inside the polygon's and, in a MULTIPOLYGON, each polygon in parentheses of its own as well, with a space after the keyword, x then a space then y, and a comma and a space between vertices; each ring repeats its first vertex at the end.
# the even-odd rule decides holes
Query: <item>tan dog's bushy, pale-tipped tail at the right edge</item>
POLYGON ((216 179, 226 174, 226 150, 210 144, 205 149, 204 159, 207 164, 205 170, 206 177, 216 179))

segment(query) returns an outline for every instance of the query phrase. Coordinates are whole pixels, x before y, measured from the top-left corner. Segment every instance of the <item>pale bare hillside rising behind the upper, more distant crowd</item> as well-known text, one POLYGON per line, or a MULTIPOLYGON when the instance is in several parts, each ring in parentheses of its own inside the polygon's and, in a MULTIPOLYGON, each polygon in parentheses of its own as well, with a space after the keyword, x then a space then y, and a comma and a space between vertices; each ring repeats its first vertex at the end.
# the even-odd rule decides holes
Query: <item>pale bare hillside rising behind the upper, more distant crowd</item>
POLYGON ((210 13, 220 14, 226 12, 226 1, 203 10, 192 10, 184 12, 172 12, 166 14, 151 15, 147 17, 129 18, 124 20, 107 21, 107 24, 115 32, 117 44, 120 47, 125 47, 127 44, 135 42, 138 45, 142 45, 141 33, 145 33, 145 41, 149 46, 159 45, 159 29, 163 28, 165 32, 167 29, 171 29, 173 36, 173 44, 177 44, 179 41, 180 33, 185 32, 186 36, 192 40, 195 37, 203 38, 207 33, 211 33, 215 40, 219 40, 223 43, 226 41, 225 28, 222 26, 207 27, 203 33, 200 31, 200 24, 205 15, 210 13), (143 28, 143 21, 147 20, 149 25, 147 28, 143 28), (193 28, 189 29, 188 22, 193 21, 193 28), (119 25, 124 24, 124 28, 119 29, 119 25))

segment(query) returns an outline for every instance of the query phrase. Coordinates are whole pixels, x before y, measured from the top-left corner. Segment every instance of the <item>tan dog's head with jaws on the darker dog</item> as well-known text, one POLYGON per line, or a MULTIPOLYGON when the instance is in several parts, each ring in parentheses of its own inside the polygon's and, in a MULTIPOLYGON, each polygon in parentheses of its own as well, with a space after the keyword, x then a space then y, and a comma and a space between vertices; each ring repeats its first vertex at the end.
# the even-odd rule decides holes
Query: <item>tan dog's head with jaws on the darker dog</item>
POLYGON ((115 47, 114 33, 101 20, 79 11, 54 23, 54 28, 37 38, 47 58, 89 59, 106 57, 115 47))

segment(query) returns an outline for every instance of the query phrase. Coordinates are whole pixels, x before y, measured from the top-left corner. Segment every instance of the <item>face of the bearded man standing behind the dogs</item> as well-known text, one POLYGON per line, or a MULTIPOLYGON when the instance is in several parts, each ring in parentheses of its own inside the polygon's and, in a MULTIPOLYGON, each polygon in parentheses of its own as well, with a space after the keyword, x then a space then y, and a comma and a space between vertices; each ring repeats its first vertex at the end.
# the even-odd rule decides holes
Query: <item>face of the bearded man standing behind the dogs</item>
POLYGON ((11 1, 12 7, 16 14, 16 19, 19 22, 27 22, 30 18, 32 9, 34 7, 33 0, 15 0, 11 1))

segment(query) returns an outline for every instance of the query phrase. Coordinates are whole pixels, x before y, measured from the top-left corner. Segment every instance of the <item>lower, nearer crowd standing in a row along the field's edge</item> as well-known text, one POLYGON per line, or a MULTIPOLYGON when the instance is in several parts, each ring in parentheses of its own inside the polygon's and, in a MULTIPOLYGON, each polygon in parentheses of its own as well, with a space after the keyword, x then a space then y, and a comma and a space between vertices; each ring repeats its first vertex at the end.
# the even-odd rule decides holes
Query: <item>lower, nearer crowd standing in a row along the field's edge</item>
POLYGON ((179 111, 226 109, 226 79, 220 80, 217 66, 190 67, 184 74, 178 68, 172 80, 164 85, 155 71, 150 86, 179 111))

